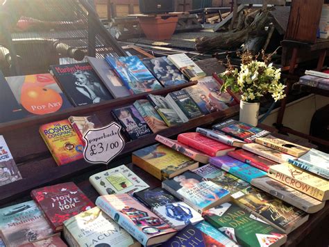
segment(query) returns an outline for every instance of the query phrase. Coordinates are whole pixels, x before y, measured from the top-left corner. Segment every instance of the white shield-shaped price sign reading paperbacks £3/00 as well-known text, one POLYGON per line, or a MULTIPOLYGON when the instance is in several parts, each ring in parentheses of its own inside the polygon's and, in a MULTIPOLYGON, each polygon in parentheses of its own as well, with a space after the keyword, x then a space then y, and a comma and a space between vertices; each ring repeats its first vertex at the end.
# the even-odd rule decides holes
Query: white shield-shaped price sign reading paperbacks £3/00
POLYGON ((116 122, 100 129, 90 129, 83 138, 87 145, 83 156, 93 164, 108 164, 124 149, 121 126, 116 122))

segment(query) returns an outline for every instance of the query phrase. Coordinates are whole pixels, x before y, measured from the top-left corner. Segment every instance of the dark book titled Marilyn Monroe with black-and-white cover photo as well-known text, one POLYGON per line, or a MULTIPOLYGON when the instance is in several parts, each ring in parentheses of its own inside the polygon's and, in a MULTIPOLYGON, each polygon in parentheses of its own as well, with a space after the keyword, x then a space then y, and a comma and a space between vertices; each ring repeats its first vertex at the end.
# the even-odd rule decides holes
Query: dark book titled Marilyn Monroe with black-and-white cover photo
POLYGON ((113 99, 89 63, 51 65, 50 72, 74 106, 113 99))

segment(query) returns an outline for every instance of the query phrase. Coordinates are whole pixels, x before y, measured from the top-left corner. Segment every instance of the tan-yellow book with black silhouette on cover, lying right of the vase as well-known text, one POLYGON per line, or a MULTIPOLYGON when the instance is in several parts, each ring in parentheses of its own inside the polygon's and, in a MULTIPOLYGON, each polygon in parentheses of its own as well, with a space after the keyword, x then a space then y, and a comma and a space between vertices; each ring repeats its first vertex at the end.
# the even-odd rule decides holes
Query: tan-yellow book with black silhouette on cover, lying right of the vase
POLYGON ((280 152, 285 152, 286 154, 290 154, 294 157, 301 157, 303 154, 310 151, 310 148, 305 148, 301 145, 290 143, 289 141, 285 141, 271 135, 262 138, 256 138, 256 143, 267 146, 274 150, 278 150, 280 152))

